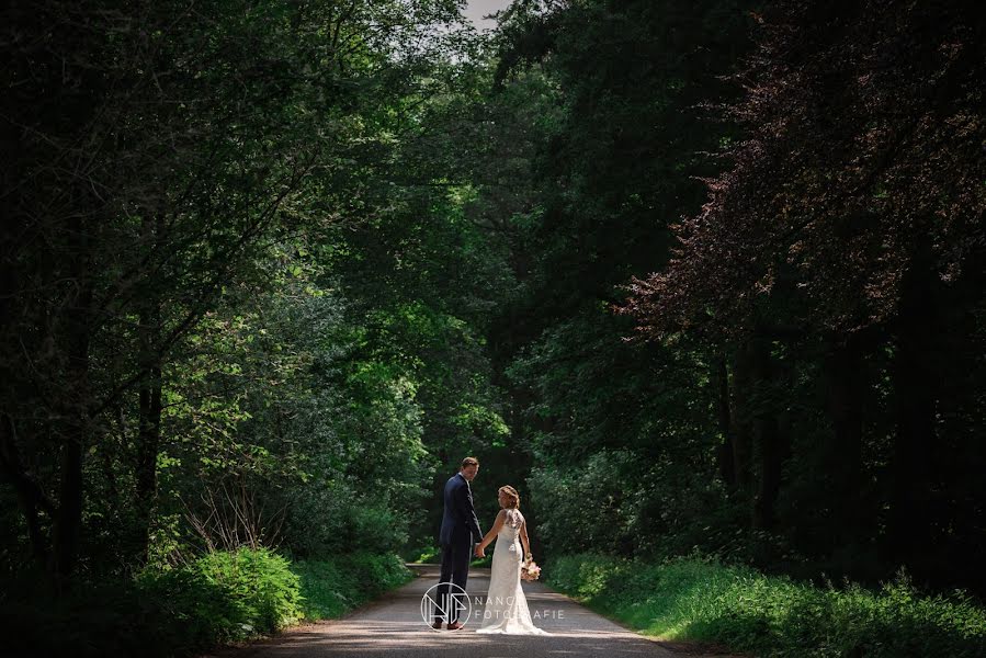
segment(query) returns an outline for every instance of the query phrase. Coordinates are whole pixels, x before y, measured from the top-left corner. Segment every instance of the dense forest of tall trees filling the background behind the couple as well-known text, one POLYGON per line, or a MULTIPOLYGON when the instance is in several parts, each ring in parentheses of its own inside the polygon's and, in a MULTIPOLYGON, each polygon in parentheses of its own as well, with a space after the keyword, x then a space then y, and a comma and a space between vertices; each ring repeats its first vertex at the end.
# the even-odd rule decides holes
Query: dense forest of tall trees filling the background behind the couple
POLYGON ((466 455, 548 571, 986 593, 986 14, 463 4, 3 10, 4 621, 399 580, 466 455))

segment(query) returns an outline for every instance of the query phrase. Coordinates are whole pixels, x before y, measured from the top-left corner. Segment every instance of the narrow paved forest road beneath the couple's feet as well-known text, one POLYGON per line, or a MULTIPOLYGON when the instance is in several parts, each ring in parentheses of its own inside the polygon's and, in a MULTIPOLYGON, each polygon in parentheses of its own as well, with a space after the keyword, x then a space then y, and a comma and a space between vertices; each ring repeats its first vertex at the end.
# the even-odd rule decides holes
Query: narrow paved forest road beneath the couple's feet
MULTIPOLYGON (((438 583, 438 567, 415 567, 419 577, 339 620, 285 631, 277 637, 208 654, 214 658, 316 658, 329 656, 388 658, 542 658, 599 656, 619 658, 681 658, 725 656, 699 654, 688 647, 648 639, 591 612, 540 582, 525 582, 524 593, 534 624, 551 636, 479 635, 479 619, 460 631, 433 631, 421 619, 421 598, 438 583)), ((471 569, 469 597, 485 599, 489 569, 471 569)), ((481 600, 480 599, 480 600, 481 600)), ((481 605, 473 614, 481 615, 481 605)))

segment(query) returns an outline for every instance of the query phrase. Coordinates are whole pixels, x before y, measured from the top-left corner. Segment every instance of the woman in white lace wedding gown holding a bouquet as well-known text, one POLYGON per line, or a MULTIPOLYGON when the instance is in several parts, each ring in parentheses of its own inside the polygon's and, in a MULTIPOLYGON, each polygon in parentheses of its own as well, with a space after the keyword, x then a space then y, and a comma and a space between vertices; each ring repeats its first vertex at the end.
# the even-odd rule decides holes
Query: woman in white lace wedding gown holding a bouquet
POLYGON ((497 540, 489 576, 489 592, 483 624, 476 633, 507 633, 510 635, 551 635, 534 625, 528 600, 520 585, 523 564, 518 537, 523 542, 524 556, 531 556, 528 524, 520 513, 520 495, 510 486, 498 491, 500 507, 494 526, 476 547, 476 556, 485 557, 484 549, 497 540))

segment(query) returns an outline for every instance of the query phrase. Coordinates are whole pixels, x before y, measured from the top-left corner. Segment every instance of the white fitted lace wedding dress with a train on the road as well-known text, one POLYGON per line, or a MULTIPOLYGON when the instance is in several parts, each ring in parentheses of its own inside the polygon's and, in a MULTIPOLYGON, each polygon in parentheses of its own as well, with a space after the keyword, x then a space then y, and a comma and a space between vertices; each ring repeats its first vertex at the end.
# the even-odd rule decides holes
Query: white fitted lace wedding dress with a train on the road
POLYGON ((497 533, 489 575, 489 593, 483 611, 483 624, 476 633, 508 635, 551 635, 534 625, 528 600, 520 585, 523 549, 519 533, 524 522, 520 510, 508 509, 507 521, 497 533))

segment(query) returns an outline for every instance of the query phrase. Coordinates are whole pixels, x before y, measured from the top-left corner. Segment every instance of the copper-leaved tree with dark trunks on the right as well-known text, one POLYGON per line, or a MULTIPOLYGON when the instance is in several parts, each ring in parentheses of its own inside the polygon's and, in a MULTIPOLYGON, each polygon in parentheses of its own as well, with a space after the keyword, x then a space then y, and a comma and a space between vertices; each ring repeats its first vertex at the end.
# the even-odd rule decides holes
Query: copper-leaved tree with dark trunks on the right
POLYGON ((841 496, 859 486, 861 410, 882 385, 851 378, 889 349, 884 557, 931 574, 922 555, 952 542, 951 512, 932 509, 953 474, 928 458, 951 406, 949 350, 981 336, 962 318, 982 305, 984 23, 965 3, 794 1, 758 18, 756 56, 733 77, 745 97, 724 107, 745 131, 722 151, 733 168, 705 179, 671 261, 634 279, 623 310, 651 339, 815 342, 848 462, 841 496))

